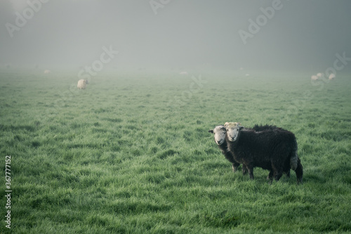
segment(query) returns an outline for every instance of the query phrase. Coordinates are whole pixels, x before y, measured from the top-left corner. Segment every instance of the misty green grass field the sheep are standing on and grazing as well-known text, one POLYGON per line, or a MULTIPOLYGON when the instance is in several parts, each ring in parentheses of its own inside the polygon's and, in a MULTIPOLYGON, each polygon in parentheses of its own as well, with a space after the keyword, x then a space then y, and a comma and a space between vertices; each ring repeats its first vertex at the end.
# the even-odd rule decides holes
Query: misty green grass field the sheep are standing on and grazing
POLYGON ((351 232, 351 74, 191 75, 100 74, 79 91, 75 73, 3 70, 0 233, 6 155, 12 233, 351 232), (303 185, 233 173, 208 133, 228 121, 292 131, 303 185))

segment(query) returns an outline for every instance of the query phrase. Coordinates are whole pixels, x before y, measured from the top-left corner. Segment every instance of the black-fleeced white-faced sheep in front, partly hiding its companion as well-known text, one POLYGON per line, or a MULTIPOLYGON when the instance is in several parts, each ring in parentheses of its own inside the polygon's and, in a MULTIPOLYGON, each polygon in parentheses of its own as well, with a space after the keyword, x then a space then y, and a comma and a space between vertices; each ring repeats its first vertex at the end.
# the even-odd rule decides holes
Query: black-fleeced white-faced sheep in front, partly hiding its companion
POLYGON ((270 171, 268 178, 272 183, 290 169, 296 172, 298 183, 303 182, 303 166, 298 157, 298 145, 293 133, 284 129, 254 131, 244 129, 237 122, 225 124, 228 150, 234 160, 245 165, 253 179, 253 168, 261 167, 270 171))

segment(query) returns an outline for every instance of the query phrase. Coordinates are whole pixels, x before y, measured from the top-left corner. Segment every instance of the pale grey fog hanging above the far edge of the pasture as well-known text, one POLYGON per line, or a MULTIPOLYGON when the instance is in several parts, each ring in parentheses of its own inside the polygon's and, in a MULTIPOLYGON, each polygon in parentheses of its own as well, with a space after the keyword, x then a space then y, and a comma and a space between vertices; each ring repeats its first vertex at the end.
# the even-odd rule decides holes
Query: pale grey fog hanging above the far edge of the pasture
POLYGON ((79 70, 104 48, 118 51, 105 69, 323 72, 337 53, 351 63, 350 0, 46 1, 1 0, 1 67, 79 70))

